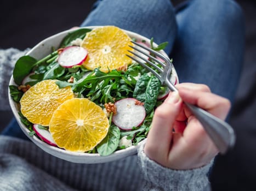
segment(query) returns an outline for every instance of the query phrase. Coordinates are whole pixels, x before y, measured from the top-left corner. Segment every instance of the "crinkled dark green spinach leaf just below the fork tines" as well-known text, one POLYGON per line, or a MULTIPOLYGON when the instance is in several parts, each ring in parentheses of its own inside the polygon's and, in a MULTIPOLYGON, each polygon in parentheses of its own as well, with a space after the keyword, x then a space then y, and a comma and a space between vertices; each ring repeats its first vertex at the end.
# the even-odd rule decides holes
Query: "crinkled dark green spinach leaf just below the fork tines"
POLYGON ((143 74, 136 82, 133 97, 144 103, 146 114, 154 108, 161 87, 156 76, 143 74))

